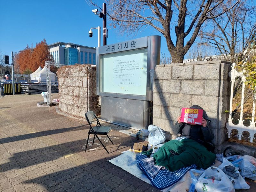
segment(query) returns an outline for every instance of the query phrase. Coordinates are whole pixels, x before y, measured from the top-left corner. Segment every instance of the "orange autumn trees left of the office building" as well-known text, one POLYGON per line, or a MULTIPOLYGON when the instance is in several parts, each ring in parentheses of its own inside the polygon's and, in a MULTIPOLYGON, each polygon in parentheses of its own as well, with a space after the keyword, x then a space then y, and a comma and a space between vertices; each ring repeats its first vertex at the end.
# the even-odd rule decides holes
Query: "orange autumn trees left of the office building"
MULTIPOLYGON (((54 61, 45 39, 37 43, 34 49, 27 45, 24 50, 15 54, 16 69, 19 69, 21 74, 25 71, 33 72, 39 66, 43 68, 46 60, 54 61)), ((55 71, 54 69, 51 70, 55 71)))

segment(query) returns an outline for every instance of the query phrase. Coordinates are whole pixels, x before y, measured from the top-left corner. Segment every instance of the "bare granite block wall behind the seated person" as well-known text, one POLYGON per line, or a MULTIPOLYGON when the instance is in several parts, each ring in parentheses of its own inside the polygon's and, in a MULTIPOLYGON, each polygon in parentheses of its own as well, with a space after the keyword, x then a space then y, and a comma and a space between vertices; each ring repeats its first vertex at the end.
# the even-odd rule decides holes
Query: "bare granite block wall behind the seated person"
POLYGON ((229 108, 230 63, 199 61, 157 65, 154 74, 153 124, 166 131, 166 139, 177 137, 174 124, 182 107, 199 105, 211 119, 217 149, 226 140, 229 108))

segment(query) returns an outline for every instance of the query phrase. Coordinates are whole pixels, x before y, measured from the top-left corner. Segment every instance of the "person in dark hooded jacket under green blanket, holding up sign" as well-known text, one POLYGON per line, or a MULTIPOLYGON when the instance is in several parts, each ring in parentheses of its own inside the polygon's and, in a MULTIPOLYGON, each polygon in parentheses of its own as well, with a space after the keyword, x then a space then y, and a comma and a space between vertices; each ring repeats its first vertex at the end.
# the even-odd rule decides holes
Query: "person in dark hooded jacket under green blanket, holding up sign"
MULTIPOLYGON (((190 108, 202 109, 197 105, 190 108)), ((159 150, 153 155, 155 165, 164 166, 169 171, 176 171, 182 167, 187 167, 196 164, 197 168, 206 169, 215 161, 216 155, 206 149, 204 142, 210 141, 214 138, 212 130, 207 126, 208 116, 206 112, 203 113, 202 125, 183 124, 180 122, 180 116, 175 126, 180 128, 182 137, 175 140, 166 142, 159 150), (188 129, 188 133, 183 130, 188 129), (184 135, 184 134, 185 135, 184 135), (186 137, 184 137, 186 136, 186 137)), ((152 154, 152 149, 142 152, 147 156, 152 154)))

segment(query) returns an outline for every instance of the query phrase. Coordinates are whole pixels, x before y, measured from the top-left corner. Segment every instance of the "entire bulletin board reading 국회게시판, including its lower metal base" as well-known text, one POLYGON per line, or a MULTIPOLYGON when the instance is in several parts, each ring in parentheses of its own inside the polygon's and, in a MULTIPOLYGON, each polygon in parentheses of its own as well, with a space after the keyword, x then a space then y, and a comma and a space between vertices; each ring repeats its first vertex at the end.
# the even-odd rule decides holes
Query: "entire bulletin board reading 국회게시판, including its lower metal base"
POLYGON ((97 48, 96 90, 101 96, 102 120, 135 129, 148 128, 160 42, 160 36, 146 36, 97 48))

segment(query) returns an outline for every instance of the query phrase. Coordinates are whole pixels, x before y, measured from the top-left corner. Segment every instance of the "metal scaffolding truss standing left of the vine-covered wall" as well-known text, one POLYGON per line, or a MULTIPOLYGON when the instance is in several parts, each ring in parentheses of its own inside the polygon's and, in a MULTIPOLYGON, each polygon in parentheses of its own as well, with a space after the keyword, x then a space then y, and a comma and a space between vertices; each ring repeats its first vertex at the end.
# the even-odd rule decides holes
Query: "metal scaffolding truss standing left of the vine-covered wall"
POLYGON ((55 63, 52 61, 45 61, 45 66, 46 66, 46 89, 47 89, 47 107, 51 106, 52 103, 52 84, 51 84, 51 76, 50 76, 50 67, 55 66, 55 67, 61 67, 65 66, 60 63, 55 63))

